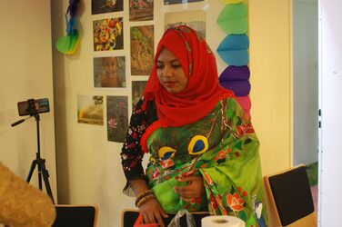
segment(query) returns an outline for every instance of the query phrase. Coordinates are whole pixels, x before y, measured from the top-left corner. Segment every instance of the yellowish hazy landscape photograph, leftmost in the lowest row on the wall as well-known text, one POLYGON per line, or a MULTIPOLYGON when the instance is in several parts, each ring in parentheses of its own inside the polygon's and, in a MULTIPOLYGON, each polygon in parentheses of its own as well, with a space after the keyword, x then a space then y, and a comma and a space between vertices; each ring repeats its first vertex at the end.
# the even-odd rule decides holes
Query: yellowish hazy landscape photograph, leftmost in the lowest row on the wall
POLYGON ((77 95, 77 121, 104 125, 104 96, 77 95))

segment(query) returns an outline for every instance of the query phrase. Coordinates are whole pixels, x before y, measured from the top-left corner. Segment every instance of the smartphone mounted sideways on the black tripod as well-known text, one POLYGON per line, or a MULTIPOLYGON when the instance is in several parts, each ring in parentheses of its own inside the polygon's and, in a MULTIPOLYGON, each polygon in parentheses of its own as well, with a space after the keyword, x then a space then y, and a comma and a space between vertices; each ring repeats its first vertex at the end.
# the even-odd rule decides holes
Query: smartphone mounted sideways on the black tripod
POLYGON ((49 100, 44 99, 28 99, 27 101, 18 102, 19 116, 35 115, 47 113, 50 111, 49 100))

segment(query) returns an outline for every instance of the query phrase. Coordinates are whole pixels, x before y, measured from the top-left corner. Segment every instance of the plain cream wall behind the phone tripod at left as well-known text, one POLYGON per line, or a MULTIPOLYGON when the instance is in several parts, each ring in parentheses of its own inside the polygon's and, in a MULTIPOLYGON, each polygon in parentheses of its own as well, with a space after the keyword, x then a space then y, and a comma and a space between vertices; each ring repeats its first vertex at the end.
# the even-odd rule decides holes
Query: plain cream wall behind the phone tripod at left
MULTIPOLYGON (((0 161, 26 178, 37 152, 35 118, 14 128, 10 124, 24 118, 18 115, 17 102, 48 98, 51 111, 40 114, 41 157, 56 197, 50 3, 3 1, 0 26, 0 161)), ((37 185, 37 168, 31 183, 37 185)))

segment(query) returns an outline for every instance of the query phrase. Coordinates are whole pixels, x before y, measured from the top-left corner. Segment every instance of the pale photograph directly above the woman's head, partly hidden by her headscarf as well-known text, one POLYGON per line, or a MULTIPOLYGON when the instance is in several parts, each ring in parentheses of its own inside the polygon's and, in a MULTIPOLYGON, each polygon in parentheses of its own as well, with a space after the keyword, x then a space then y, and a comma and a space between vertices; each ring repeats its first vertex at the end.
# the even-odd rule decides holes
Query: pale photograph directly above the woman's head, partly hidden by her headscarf
POLYGON ((165 14, 165 30, 172 25, 188 25, 206 37, 206 12, 203 10, 189 10, 165 14))

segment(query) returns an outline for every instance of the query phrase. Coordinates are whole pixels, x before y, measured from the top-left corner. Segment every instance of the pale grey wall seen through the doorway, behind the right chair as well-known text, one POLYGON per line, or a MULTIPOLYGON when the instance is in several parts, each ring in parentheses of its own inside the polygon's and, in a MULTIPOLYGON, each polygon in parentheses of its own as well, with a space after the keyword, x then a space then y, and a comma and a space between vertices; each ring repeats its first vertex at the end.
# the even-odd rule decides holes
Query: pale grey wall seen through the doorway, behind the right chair
POLYGON ((293 1, 294 164, 318 160, 318 6, 293 1))

